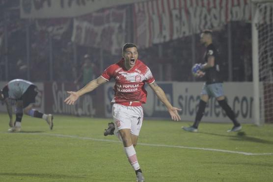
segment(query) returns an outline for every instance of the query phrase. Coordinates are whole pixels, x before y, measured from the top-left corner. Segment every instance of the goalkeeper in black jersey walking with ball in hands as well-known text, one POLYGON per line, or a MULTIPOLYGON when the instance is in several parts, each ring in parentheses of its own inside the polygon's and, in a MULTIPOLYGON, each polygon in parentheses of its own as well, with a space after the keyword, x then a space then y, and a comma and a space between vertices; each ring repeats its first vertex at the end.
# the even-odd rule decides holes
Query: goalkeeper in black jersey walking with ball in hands
POLYGON ((201 91, 201 99, 199 103, 199 108, 196 113, 195 121, 191 127, 182 127, 182 129, 191 132, 197 132, 198 125, 204 115, 206 104, 210 97, 216 97, 219 105, 224 109, 226 115, 233 122, 233 128, 230 131, 239 131, 242 129, 242 126, 236 120, 235 114, 230 106, 227 104, 225 100, 225 96, 223 95, 223 87, 222 87, 222 78, 220 75, 219 69, 219 58, 218 51, 214 47, 212 42, 212 31, 204 30, 201 33, 200 42, 205 45, 207 48, 205 52, 205 63, 204 64, 195 64, 192 68, 193 75, 195 77, 203 77, 205 76, 205 84, 201 91))

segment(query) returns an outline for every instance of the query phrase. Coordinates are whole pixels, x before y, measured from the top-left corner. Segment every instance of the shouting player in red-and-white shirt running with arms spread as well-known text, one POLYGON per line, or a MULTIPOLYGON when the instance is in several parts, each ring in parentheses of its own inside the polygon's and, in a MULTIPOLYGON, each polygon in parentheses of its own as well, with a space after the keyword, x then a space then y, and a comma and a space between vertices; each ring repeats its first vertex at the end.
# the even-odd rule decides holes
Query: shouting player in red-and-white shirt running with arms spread
POLYGON ((177 112, 181 109, 173 107, 168 102, 164 91, 156 84, 150 69, 137 59, 138 52, 135 44, 126 43, 122 49, 122 57, 119 62, 110 65, 99 78, 87 83, 79 91, 69 91, 70 95, 64 102, 74 104, 83 94, 114 78, 115 94, 111 101, 114 128, 118 131, 117 136, 122 140, 126 156, 136 171, 136 180, 144 182, 134 148, 143 122, 141 104, 146 102, 147 97, 144 84, 147 83, 161 102, 165 104, 172 120, 181 120, 177 112))

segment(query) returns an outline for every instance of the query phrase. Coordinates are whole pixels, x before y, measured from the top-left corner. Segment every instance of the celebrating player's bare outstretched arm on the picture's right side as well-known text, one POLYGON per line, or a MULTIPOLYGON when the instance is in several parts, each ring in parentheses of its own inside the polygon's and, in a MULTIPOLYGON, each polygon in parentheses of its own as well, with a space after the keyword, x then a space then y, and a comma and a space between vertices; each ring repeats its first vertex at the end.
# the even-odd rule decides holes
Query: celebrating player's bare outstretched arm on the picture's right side
POLYGON ((158 86, 158 84, 156 82, 153 82, 152 84, 149 84, 149 85, 153 89, 153 91, 156 93, 156 95, 160 99, 160 101, 167 107, 167 109, 170 113, 171 119, 174 121, 181 120, 181 118, 177 112, 178 110, 181 110, 181 109, 173 107, 170 104, 170 102, 168 101, 166 94, 164 93, 162 88, 160 88, 160 86, 158 86))

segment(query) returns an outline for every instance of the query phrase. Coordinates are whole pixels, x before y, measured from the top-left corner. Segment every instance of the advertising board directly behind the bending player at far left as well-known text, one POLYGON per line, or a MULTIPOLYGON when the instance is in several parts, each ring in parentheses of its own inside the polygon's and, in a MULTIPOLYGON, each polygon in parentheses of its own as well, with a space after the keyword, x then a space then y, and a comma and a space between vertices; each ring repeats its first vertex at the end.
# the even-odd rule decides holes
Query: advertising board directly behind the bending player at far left
MULTIPOLYGON (((44 103, 45 103, 44 84, 43 84, 43 82, 33 82, 33 83, 38 88, 38 94, 36 96, 34 108, 41 111, 41 112, 44 112, 45 111, 45 107, 44 107, 44 103)), ((7 84, 6 81, 0 81, 0 89, 2 89, 6 84, 7 84)), ((13 113, 15 113, 15 102, 12 102, 12 104, 13 104, 13 113)), ((4 103, 2 103, 2 102, 0 102, 0 112, 7 112, 6 105, 4 103)))

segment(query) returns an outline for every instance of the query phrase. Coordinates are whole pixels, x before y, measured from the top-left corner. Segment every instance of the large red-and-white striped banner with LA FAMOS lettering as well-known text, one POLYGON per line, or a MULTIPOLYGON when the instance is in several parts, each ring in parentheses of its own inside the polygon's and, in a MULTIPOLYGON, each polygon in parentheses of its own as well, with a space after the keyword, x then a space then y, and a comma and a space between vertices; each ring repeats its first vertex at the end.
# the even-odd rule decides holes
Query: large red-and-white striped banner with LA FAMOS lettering
POLYGON ((134 3, 134 42, 164 43, 229 21, 251 22, 250 0, 149 0, 134 3))

